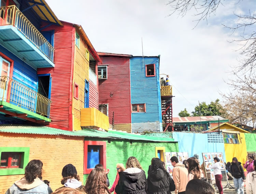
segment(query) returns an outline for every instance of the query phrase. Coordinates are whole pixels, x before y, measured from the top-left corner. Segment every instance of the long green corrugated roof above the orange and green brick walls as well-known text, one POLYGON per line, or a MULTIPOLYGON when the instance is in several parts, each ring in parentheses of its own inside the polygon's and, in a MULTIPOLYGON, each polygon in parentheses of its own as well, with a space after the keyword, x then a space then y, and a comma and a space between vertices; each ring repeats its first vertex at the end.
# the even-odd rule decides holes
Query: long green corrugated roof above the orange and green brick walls
POLYGON ((67 135, 80 137, 95 137, 95 138, 114 138, 114 139, 129 139, 141 141, 174 141, 173 138, 153 137, 139 134, 125 133, 121 131, 108 132, 97 130, 80 130, 80 131, 65 131, 47 126, 33 126, 33 125, 0 125, 0 132, 5 133, 22 133, 22 134, 41 134, 41 135, 67 135))

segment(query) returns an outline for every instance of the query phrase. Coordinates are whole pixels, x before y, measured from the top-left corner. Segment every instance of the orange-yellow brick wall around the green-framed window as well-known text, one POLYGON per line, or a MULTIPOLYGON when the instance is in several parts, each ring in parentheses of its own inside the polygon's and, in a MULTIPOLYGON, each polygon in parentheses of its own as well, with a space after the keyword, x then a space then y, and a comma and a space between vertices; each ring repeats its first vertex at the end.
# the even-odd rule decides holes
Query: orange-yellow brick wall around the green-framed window
MULTIPOLYGON (((0 147, 30 147, 29 161, 41 160, 43 162, 43 180, 50 181, 53 191, 61 185, 62 168, 66 164, 73 164, 77 174, 83 182, 84 166, 84 138, 49 135, 6 134, 0 135, 0 147)), ((24 175, 0 176, 0 194, 24 175)))

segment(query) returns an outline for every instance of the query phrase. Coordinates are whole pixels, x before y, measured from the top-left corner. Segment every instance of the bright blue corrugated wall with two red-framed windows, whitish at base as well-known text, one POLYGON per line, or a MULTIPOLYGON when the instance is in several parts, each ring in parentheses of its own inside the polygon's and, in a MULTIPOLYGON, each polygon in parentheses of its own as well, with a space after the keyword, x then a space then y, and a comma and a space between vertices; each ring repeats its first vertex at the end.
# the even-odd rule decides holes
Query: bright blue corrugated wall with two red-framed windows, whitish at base
POLYGON ((146 104, 145 113, 132 113, 132 132, 160 131, 162 123, 159 83, 159 58, 130 58, 131 104, 146 104), (155 64, 156 76, 146 77, 145 65, 155 64))

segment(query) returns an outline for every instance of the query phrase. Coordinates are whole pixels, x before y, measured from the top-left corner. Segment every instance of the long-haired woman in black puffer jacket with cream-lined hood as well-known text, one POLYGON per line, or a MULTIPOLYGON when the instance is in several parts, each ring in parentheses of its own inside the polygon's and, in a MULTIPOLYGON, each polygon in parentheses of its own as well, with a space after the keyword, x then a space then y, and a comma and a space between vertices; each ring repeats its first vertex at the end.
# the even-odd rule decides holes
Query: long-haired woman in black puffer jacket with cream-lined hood
POLYGON ((128 158, 126 170, 119 172, 116 194, 146 194, 147 179, 144 170, 134 156, 128 158))

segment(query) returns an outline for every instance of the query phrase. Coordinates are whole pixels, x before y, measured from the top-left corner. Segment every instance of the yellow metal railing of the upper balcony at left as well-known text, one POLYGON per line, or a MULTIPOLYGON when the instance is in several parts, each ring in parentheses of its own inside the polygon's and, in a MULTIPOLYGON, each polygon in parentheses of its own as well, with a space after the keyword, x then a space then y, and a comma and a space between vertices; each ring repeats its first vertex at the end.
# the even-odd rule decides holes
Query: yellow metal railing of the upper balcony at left
POLYGON ((28 38, 42 53, 53 61, 53 46, 15 5, 0 7, 0 26, 13 25, 28 38))

